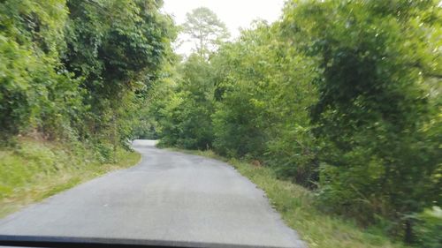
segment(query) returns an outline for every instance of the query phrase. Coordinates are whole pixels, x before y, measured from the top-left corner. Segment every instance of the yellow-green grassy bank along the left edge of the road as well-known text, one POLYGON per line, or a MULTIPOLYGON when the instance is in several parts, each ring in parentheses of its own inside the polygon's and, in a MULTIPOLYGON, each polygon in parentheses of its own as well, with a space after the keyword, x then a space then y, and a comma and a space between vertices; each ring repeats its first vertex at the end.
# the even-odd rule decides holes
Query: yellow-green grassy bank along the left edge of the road
POLYGON ((0 217, 140 158, 119 149, 116 162, 106 163, 80 144, 20 139, 18 147, 0 149, 0 217))

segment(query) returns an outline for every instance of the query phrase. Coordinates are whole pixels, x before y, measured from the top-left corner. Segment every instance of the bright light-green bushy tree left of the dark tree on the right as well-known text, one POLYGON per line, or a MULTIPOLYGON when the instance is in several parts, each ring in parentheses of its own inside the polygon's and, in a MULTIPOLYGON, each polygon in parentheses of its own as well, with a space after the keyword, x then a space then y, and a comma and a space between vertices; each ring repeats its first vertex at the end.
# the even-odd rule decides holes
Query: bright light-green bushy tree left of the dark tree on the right
POLYGON ((314 61, 287 45, 278 24, 255 22, 211 62, 217 71, 215 150, 253 157, 313 186, 316 145, 306 111, 316 101, 314 61))

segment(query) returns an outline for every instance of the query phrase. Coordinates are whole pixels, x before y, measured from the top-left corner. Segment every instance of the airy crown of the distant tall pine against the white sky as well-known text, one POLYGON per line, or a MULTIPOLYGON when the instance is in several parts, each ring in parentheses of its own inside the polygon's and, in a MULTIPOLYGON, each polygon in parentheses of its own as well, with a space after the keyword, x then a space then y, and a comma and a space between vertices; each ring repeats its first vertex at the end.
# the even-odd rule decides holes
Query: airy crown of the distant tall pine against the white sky
POLYGON ((206 59, 230 36, 225 24, 213 11, 205 7, 187 13, 183 33, 188 34, 190 41, 194 42, 194 51, 206 59))

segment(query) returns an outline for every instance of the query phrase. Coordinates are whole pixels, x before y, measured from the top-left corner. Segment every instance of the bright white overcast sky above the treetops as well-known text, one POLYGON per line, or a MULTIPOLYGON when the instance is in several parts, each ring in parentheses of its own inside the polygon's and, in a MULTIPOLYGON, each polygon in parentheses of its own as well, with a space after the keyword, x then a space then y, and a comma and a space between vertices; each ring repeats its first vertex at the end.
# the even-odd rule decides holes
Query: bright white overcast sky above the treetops
MULTIPOLYGON (((255 19, 264 19, 269 23, 282 14, 285 0, 164 0, 163 10, 171 14, 176 24, 186 20, 186 13, 198 7, 207 7, 217 14, 232 38, 240 35, 240 27, 248 27, 255 19)), ((183 44, 176 50, 180 54, 189 54, 191 44, 183 44)))

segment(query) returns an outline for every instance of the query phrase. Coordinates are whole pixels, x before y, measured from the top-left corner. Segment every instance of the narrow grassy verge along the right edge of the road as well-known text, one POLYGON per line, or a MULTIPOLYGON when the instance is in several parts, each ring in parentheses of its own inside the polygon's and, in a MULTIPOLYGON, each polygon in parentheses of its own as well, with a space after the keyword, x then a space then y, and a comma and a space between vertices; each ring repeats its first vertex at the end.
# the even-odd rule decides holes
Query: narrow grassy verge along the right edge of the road
POLYGON ((226 160, 211 151, 187 151, 172 149, 189 154, 197 154, 229 162, 244 177, 266 192, 271 205, 281 214, 288 226, 298 231, 301 239, 310 248, 371 248, 406 247, 393 244, 377 229, 361 229, 353 222, 337 216, 321 213, 315 209, 314 194, 291 182, 279 180, 273 171, 266 167, 256 167, 247 162, 226 160))

